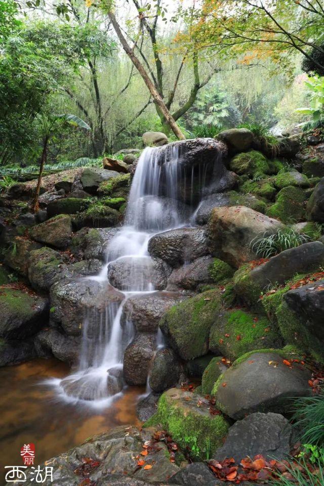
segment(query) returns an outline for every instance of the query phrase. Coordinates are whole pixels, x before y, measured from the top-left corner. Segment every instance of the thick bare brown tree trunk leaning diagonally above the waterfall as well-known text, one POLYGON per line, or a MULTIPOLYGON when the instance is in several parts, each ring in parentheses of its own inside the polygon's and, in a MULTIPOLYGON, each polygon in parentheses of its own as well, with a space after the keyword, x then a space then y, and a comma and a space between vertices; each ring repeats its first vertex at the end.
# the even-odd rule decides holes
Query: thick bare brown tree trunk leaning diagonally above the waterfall
POLYGON ((155 87, 154 87, 154 85, 153 85, 153 83, 152 83, 149 75, 145 71, 143 65, 140 63, 140 61, 135 56, 133 50, 128 45, 128 43, 126 41, 126 38, 123 35, 123 32, 121 32, 121 30, 120 30, 119 24, 118 24, 118 22, 117 22, 117 20, 116 20, 116 18, 114 16, 114 14, 110 12, 108 14, 108 16, 109 16, 109 19, 110 19, 110 21, 111 21, 111 23, 113 25, 113 28, 114 28, 116 34, 117 34, 117 37, 118 37, 118 39, 119 39, 119 41, 121 43, 121 46, 123 46, 124 51, 126 52, 126 54, 128 55, 128 57, 131 59, 132 63, 134 64, 134 66, 136 67, 136 69, 138 70, 138 72, 140 73, 140 75, 142 76, 145 85, 147 86, 149 92, 151 93, 151 95, 153 97, 154 103, 158 106, 158 108, 163 113, 163 115, 164 115, 167 123, 170 125, 171 130, 176 135, 176 137, 179 140, 185 140, 185 136, 183 135, 183 133, 181 132, 180 128, 176 124, 173 116, 171 115, 170 111, 168 110, 168 108, 167 108, 165 102, 163 101, 163 99, 160 97, 158 91, 155 89, 155 87))

